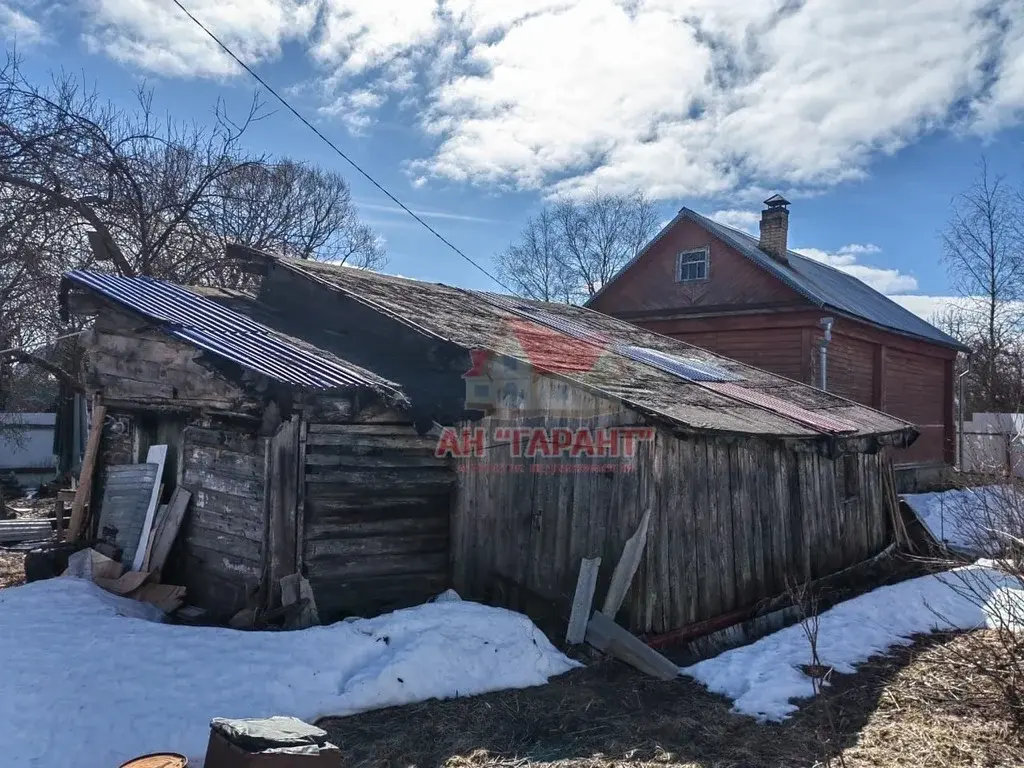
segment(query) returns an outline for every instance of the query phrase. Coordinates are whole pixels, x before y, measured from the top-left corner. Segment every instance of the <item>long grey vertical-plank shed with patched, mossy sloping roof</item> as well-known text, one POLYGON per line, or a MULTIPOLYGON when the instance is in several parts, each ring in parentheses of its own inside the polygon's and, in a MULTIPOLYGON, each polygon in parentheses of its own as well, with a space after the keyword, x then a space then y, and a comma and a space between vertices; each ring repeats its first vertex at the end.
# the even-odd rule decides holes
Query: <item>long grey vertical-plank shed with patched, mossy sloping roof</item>
POLYGON ((395 382, 414 423, 479 449, 456 459, 451 510, 466 596, 523 607, 525 595, 566 615, 581 558, 602 558, 606 587, 650 510, 621 621, 668 633, 742 615, 892 541, 888 452, 915 439, 906 422, 582 307, 234 255, 262 264, 259 302, 279 328, 395 382), (516 428, 649 439, 614 461, 527 455, 516 428))

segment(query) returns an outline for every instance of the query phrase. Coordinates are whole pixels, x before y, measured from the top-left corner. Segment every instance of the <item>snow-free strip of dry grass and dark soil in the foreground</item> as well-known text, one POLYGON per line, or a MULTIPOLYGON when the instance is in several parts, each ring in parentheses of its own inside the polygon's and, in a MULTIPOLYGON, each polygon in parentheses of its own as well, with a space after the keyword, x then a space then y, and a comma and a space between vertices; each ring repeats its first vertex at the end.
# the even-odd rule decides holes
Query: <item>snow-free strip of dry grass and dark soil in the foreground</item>
MULTIPOLYGON (((948 664, 957 636, 922 638, 834 676, 836 749, 848 768, 1024 765, 995 695, 968 695, 948 664)), ((994 694, 994 692, 993 692, 994 694)), ((346 766, 498 768, 821 765, 821 701, 759 725, 689 679, 659 683, 617 663, 550 685, 367 713, 322 723, 346 766)))

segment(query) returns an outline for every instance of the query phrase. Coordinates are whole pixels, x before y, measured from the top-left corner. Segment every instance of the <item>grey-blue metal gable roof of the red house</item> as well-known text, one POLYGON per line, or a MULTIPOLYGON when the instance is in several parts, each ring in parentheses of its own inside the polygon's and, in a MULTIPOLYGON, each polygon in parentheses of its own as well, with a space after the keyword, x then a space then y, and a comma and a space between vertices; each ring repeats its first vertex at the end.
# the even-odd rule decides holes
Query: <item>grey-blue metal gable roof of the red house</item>
POLYGON ((901 307, 888 296, 879 293, 852 274, 794 251, 787 252, 790 263, 787 265, 781 264, 758 247, 757 238, 713 221, 689 208, 681 209, 678 215, 654 236, 650 243, 607 285, 611 285, 618 275, 636 263, 654 243, 667 234, 681 219, 688 219, 703 227, 817 306, 833 309, 847 316, 906 336, 924 339, 934 344, 967 350, 967 347, 951 336, 922 319, 909 309, 901 307))

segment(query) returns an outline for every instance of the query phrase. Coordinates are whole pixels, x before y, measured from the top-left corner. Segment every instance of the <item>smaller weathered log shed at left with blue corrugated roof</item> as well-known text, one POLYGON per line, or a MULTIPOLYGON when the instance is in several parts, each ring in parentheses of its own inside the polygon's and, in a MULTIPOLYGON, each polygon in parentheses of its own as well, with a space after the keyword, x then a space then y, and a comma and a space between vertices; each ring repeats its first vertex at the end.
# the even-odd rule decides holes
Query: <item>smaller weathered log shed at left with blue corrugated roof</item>
MULTIPOLYGON (((95 316, 97 476, 167 444, 164 498, 191 492, 166 574, 190 603, 227 617, 301 571, 331 621, 447 586, 453 472, 397 385, 272 330, 244 294, 87 271, 61 294, 66 311, 95 316)), ((100 485, 94 508, 102 498, 100 485)))

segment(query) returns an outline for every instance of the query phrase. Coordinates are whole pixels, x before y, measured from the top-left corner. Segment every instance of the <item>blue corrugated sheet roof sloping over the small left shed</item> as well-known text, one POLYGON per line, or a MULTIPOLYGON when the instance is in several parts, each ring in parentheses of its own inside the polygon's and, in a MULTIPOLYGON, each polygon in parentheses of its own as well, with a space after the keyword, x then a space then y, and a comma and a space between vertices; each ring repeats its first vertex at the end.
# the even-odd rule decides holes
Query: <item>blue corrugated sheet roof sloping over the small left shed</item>
POLYGON ((369 371, 300 346, 261 323, 173 283, 82 269, 65 278, 161 324, 165 333, 282 383, 310 389, 394 389, 369 371))

